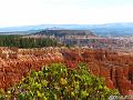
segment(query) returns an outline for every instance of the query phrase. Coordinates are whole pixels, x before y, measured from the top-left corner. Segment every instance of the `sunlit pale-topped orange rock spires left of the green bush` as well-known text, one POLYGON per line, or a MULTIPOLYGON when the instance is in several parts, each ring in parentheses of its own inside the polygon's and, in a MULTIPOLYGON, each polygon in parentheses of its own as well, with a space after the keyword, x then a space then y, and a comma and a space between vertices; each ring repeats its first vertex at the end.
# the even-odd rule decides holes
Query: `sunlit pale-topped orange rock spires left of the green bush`
POLYGON ((27 77, 31 70, 39 71, 44 64, 63 62, 63 57, 59 52, 43 53, 42 56, 37 56, 31 51, 28 51, 28 53, 16 59, 0 58, 0 88, 7 89, 13 86, 22 79, 22 76, 27 77))

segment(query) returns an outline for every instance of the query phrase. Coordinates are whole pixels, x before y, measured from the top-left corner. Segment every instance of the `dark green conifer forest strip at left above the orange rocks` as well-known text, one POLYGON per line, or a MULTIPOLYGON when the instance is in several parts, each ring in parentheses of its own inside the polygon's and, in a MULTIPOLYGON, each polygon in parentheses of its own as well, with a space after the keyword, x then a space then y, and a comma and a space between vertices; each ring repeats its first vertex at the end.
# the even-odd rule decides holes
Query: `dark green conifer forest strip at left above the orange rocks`
POLYGON ((49 38, 22 38, 22 36, 0 36, 0 47, 42 48, 55 47, 58 42, 49 38))

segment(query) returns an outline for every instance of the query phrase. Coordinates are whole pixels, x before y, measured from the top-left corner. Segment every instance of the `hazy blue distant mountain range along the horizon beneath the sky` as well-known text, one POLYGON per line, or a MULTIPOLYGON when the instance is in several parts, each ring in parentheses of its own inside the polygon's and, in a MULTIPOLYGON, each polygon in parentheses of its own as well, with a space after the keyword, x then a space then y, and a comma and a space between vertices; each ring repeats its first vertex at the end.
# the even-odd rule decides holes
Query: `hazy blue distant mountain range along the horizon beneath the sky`
POLYGON ((29 34, 41 30, 91 30, 98 36, 133 36, 133 22, 106 24, 38 24, 0 28, 0 34, 29 34))

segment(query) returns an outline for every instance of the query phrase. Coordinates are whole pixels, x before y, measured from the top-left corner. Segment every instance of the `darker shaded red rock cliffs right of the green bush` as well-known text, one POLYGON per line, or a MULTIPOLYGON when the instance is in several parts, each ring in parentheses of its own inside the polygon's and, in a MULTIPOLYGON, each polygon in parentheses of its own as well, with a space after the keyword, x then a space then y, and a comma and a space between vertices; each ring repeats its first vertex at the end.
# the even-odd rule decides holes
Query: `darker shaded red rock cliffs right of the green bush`
MULTIPOLYGON (((74 51, 76 53, 78 51, 74 51)), ((64 60, 68 61, 73 54, 72 51, 65 51, 64 60)), ((104 77, 105 84, 110 89, 119 89, 121 94, 127 94, 133 91, 133 57, 119 56, 115 52, 105 50, 84 50, 81 52, 82 61, 89 63, 90 72, 104 77)), ((76 56, 80 58, 80 56, 76 56)), ((74 57, 73 57, 74 58, 74 57)), ((76 59, 74 59, 76 62, 76 59)))

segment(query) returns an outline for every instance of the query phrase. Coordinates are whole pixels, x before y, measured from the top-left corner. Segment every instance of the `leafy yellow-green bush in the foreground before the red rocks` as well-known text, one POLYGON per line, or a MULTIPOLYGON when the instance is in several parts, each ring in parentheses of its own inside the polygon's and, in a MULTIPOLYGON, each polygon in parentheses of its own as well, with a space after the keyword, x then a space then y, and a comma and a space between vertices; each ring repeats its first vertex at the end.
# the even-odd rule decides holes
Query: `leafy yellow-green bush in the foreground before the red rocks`
POLYGON ((84 63, 69 69, 53 63, 41 71, 32 71, 16 87, 3 91, 2 100, 108 100, 119 94, 105 87, 102 78, 89 73, 84 63))

